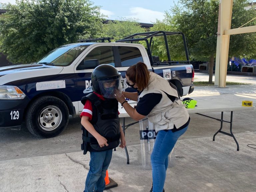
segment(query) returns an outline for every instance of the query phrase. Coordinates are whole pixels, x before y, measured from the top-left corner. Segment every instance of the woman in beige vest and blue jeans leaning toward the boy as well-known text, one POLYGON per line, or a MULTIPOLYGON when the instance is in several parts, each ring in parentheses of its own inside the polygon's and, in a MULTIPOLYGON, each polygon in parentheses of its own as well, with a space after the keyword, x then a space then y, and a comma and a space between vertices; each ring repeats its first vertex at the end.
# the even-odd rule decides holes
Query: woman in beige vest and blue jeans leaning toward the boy
POLYGON ((188 128, 188 111, 180 101, 176 87, 149 72, 144 63, 129 67, 125 76, 127 84, 137 92, 122 92, 116 99, 132 119, 138 121, 147 116, 155 124, 157 136, 151 154, 153 185, 150 192, 164 192, 168 155, 188 128), (136 108, 130 106, 125 97, 137 101, 136 108))

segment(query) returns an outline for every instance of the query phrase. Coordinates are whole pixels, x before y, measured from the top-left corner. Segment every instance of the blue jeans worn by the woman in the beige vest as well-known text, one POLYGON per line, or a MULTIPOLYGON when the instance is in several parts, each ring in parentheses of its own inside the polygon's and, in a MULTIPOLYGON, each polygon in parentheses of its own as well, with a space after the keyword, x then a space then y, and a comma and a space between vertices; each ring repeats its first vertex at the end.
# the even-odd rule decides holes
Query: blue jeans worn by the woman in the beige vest
POLYGON ((164 188, 166 170, 168 167, 168 155, 172 151, 178 138, 186 132, 188 127, 179 131, 158 131, 154 149, 151 154, 153 192, 162 192, 164 188))

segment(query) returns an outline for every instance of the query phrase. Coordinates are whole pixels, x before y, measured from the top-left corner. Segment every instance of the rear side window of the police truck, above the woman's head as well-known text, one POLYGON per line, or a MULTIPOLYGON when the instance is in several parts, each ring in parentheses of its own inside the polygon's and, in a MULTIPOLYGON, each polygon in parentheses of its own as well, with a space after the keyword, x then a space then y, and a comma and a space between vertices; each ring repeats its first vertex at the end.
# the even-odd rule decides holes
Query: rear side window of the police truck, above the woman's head
POLYGON ((129 67, 138 62, 143 62, 141 52, 137 47, 119 46, 118 51, 122 67, 129 67))

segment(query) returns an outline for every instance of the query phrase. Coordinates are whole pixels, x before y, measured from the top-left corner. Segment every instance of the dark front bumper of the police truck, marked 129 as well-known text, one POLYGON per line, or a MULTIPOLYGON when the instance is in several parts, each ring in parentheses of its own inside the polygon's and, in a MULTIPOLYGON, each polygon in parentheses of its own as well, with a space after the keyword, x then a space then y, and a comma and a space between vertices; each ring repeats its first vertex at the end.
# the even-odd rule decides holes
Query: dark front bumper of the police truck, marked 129
POLYGON ((28 97, 18 100, 0 100, 0 128, 20 129, 28 97))

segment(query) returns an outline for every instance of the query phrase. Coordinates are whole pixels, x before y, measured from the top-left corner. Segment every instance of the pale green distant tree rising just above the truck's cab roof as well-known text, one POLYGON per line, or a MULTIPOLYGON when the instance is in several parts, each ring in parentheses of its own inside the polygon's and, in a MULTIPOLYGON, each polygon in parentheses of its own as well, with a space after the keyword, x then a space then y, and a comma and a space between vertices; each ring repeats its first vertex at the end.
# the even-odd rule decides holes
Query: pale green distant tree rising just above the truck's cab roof
POLYGON ((113 41, 116 41, 134 33, 141 33, 145 31, 146 29, 142 28, 136 19, 120 18, 119 21, 109 21, 104 24, 102 36, 113 37, 113 41))

